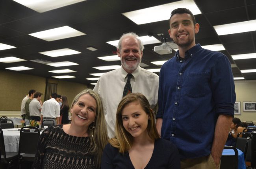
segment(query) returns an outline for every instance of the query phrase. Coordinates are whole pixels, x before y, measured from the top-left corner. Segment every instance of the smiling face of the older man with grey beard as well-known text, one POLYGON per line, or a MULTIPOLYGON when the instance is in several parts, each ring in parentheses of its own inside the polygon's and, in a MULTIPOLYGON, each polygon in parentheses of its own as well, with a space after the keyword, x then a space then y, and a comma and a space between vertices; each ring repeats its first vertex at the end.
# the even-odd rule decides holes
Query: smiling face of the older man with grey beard
POLYGON ((132 73, 141 63, 142 51, 139 50, 139 41, 132 36, 127 36, 122 40, 121 51, 117 49, 117 55, 121 57, 123 69, 127 73, 132 73))

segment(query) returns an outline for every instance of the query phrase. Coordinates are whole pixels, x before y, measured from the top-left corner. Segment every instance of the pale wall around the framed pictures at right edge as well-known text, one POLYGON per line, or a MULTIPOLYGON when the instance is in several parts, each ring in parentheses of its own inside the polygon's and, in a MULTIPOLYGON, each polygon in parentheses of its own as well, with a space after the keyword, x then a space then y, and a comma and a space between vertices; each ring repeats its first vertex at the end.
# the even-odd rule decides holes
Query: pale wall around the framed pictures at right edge
POLYGON ((241 121, 253 121, 256 123, 256 112, 244 112, 243 101, 256 101, 256 80, 235 81, 236 101, 240 101, 241 115, 235 115, 241 121))

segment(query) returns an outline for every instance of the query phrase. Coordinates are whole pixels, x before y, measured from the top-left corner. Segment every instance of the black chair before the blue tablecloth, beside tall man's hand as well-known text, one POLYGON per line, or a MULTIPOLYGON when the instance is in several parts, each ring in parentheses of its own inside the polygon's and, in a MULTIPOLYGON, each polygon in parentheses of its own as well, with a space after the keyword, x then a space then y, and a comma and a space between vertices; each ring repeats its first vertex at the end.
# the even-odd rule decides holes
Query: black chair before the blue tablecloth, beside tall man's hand
POLYGON ((238 167, 238 151, 235 147, 224 147, 224 149, 234 150, 234 155, 222 155, 220 169, 237 169, 238 167))

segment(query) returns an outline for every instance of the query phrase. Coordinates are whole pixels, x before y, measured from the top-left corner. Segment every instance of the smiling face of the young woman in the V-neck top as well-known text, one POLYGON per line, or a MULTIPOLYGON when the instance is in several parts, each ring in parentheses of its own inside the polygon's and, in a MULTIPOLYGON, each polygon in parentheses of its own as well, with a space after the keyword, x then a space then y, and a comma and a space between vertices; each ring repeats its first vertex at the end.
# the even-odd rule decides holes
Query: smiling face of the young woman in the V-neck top
POLYGON ((122 124, 133 137, 148 137, 148 115, 137 101, 122 110, 122 124))

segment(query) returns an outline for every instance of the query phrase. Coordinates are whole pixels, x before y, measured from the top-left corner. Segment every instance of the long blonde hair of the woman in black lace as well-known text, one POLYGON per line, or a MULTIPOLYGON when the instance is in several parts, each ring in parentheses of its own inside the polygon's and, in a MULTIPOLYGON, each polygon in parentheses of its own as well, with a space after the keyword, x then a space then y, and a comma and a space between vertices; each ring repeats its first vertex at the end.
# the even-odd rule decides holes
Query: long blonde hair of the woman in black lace
POLYGON ((92 154, 95 154, 95 157, 96 157, 95 165, 97 168, 100 168, 101 156, 106 144, 108 143, 107 126, 106 126, 105 116, 103 113, 102 101, 95 91, 91 89, 85 89, 82 92, 80 92, 78 95, 76 95, 76 97, 72 101, 71 108, 78 101, 78 99, 85 94, 89 94, 96 101, 97 107, 96 107, 95 122, 91 123, 91 125, 89 125, 89 128, 88 128, 88 129, 92 129, 92 130, 88 130, 89 139, 91 140, 91 145, 90 145, 91 149, 89 150, 89 152, 91 152, 92 154))

